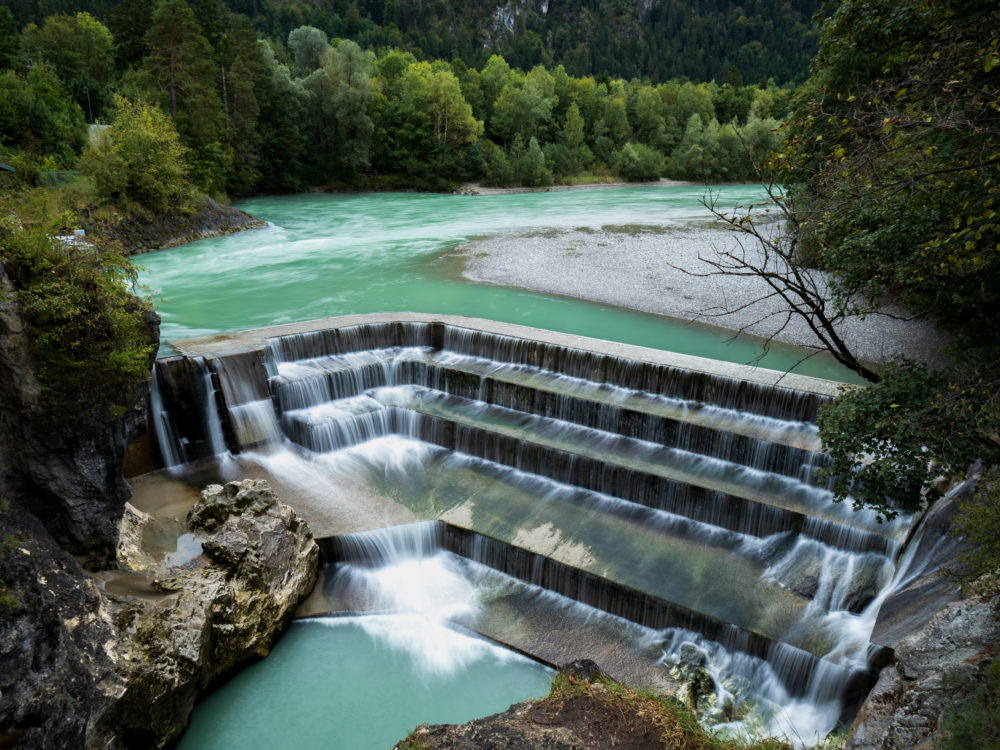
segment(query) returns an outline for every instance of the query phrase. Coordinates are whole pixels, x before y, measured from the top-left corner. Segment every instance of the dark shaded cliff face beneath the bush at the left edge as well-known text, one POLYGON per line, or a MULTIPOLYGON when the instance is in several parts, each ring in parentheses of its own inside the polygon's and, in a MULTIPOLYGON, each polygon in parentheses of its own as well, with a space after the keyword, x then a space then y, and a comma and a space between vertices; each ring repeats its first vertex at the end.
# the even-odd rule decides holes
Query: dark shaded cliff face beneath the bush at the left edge
MULTIPOLYGON (((21 498, 67 548, 113 559, 118 522, 132 494, 122 461, 128 443, 145 429, 148 385, 113 394, 126 405, 118 419, 72 427, 45 419, 43 384, 13 291, 0 269, 0 487, 21 498)), ((150 341, 158 341, 159 318, 150 313, 146 322, 150 341)))

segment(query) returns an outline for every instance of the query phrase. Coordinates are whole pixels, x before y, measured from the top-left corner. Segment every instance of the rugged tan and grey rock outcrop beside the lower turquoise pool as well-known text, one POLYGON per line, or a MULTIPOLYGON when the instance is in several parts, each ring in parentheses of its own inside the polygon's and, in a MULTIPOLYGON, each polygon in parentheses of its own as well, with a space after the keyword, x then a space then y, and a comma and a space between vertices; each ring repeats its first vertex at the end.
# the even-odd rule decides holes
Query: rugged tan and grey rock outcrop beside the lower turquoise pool
MULTIPOLYGON (((16 510, 16 509, 15 509, 16 510)), ((151 565, 139 595, 112 594, 40 524, 8 510, 0 575, 0 747, 159 748, 200 692, 265 656, 312 590, 319 549, 262 481, 210 486, 190 525, 202 554, 151 565)), ((132 538, 142 520, 129 517, 132 538)))

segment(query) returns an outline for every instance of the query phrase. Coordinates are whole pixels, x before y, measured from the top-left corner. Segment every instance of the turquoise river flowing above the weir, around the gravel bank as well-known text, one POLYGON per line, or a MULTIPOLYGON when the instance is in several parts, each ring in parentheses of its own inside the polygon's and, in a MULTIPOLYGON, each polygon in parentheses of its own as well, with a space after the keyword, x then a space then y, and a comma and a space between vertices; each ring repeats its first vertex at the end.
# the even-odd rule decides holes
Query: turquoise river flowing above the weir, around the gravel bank
MULTIPOLYGON (((703 186, 605 188, 483 196, 420 193, 254 198, 238 207, 262 229, 142 256, 164 341, 298 320, 372 312, 490 318, 657 349, 750 362, 760 343, 721 329, 578 299, 474 284, 455 249, 478 238, 588 228, 662 226, 711 218, 703 186)), ((714 188, 720 205, 760 203, 756 186, 714 188)), ((666 240, 665 240, 666 246, 666 240)), ((627 262, 627 261, 626 261, 627 262)), ((169 351, 169 349, 164 349, 169 351)), ((787 369, 802 350, 774 346, 764 367, 787 369)), ((797 372, 853 380, 830 359, 797 372)))

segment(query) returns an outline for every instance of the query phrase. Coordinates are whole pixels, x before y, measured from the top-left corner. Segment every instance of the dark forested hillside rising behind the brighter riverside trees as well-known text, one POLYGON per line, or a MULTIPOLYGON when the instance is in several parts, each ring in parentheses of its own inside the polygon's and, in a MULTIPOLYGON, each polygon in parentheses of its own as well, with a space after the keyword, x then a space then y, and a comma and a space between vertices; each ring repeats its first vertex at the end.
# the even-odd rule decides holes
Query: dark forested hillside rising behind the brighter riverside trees
MULTIPOLYGON (((108 22, 123 0, 11 0, 18 25, 88 11, 108 22)), ((362 47, 398 46, 481 67, 501 54, 514 67, 562 63, 573 76, 749 84, 805 78, 816 52, 818 0, 202 0, 191 3, 211 39, 226 10, 286 39, 303 24, 362 47)), ((130 11, 130 15, 135 16, 130 11)))

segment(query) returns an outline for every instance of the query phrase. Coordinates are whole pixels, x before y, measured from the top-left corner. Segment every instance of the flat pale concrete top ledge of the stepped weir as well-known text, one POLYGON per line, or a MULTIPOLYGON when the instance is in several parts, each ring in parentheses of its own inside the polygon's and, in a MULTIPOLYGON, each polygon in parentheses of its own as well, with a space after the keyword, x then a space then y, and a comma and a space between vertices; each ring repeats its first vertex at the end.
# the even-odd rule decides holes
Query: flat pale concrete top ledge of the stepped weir
POLYGON ((268 326, 266 328, 253 328, 246 331, 234 331, 214 334, 212 336, 171 341, 170 344, 180 354, 185 356, 224 357, 246 352, 262 352, 266 349, 269 339, 280 336, 378 323, 439 323, 455 328, 510 336, 511 338, 552 344, 569 349, 618 357, 620 359, 634 360, 636 362, 690 370, 691 372, 704 373, 706 375, 743 380, 758 385, 787 388, 789 390, 802 391, 830 398, 836 396, 840 388, 850 387, 835 380, 826 380, 809 375, 768 370, 752 365, 725 362, 707 357, 696 357, 690 354, 679 354, 662 349, 650 349, 648 347, 621 344, 604 339, 590 338, 588 336, 578 336, 513 323, 501 323, 485 318, 470 318, 462 315, 433 315, 411 312, 343 315, 335 318, 318 318, 298 323, 287 323, 284 325, 268 326))

